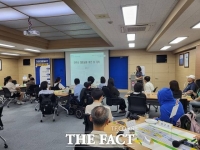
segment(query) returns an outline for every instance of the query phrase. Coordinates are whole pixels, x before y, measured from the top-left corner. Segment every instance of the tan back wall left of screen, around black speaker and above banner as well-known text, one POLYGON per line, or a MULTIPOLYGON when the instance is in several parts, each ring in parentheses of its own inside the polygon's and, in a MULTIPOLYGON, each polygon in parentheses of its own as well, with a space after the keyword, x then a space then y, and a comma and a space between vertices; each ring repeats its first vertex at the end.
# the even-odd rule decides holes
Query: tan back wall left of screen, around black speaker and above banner
POLYGON ((45 53, 39 54, 37 57, 22 57, 18 60, 18 68, 19 68, 19 83, 22 84, 23 80, 22 77, 24 75, 28 75, 29 73, 35 76, 35 59, 36 58, 65 58, 64 52, 63 53, 45 53), (31 65, 30 66, 23 66, 23 59, 30 59, 31 65))

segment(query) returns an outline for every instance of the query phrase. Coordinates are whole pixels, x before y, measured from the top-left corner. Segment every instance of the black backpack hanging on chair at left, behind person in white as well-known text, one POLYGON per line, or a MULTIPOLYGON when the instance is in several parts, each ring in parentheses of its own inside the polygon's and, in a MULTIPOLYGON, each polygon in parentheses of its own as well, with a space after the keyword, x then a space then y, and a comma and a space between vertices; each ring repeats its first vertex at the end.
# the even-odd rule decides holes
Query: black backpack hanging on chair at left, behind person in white
POLYGON ((52 94, 50 95, 41 95, 42 101, 40 103, 40 110, 42 111, 42 114, 53 114, 54 111, 54 105, 51 101, 52 94))

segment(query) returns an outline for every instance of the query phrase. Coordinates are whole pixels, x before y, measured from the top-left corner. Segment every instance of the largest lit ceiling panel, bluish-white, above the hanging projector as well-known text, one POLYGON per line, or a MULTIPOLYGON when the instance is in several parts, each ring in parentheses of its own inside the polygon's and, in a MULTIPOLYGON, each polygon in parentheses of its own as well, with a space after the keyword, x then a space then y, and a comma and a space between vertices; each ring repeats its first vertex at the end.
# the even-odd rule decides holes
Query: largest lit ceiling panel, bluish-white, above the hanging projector
POLYGON ((51 17, 75 14, 75 12, 64 2, 20 6, 15 7, 15 9, 31 17, 51 17))

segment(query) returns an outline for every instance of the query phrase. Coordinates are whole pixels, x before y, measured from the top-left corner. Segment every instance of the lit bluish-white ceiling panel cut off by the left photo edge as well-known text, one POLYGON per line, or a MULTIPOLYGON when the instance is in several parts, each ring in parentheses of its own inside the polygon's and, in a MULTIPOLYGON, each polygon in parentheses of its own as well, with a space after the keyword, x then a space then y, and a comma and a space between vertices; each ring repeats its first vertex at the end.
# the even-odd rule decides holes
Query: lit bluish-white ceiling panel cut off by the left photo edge
POLYGON ((26 15, 12 9, 12 8, 1 8, 0 9, 0 21, 6 20, 18 20, 28 18, 26 15))

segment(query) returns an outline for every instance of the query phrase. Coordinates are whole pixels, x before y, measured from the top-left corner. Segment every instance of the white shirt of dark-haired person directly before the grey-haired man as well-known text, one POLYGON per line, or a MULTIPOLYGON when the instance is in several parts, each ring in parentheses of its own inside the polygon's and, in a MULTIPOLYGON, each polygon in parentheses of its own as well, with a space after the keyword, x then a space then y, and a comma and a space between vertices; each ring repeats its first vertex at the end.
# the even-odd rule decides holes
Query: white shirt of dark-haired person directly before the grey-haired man
MULTIPOLYGON (((102 106, 102 104, 100 102, 93 102, 91 105, 87 105, 86 108, 85 108, 85 114, 91 114, 91 111, 94 107, 96 106, 102 106)), ((110 110, 110 107, 108 106, 104 106, 105 108, 108 109, 109 111, 109 120, 112 122, 113 121, 113 117, 112 117, 112 113, 111 113, 111 110, 110 110)))

